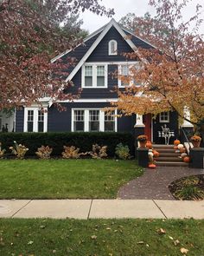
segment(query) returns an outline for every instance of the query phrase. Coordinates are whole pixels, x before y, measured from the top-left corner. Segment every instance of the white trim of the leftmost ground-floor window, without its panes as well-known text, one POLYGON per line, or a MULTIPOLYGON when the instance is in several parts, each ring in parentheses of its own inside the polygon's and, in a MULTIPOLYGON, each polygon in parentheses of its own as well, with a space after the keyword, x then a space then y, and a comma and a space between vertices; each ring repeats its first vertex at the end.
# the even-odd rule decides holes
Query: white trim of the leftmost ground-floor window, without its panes
MULTIPOLYGON (((43 108, 45 110, 44 112, 44 127, 43 132, 48 132, 48 108, 43 108)), ((24 108, 24 123, 23 123, 23 132, 28 132, 28 111, 33 110, 34 111, 34 126, 33 126, 33 132, 38 132, 38 110, 41 110, 41 108, 24 108)))

